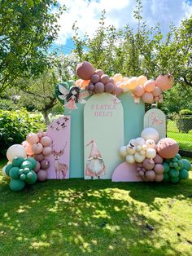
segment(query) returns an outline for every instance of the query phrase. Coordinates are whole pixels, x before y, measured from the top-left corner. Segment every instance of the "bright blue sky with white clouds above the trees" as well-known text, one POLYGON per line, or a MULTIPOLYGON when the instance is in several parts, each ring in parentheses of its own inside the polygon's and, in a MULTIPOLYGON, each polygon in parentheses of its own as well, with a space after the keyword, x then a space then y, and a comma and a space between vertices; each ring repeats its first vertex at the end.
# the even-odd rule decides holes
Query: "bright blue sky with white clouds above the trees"
MULTIPOLYGON (((91 37, 98 28, 101 12, 106 11, 106 24, 113 24, 117 29, 129 24, 133 29, 137 26, 133 18, 135 0, 58 0, 67 8, 59 19, 59 38, 52 46, 64 54, 73 48, 72 24, 76 21, 81 36, 88 33, 91 37)), ((171 22, 180 24, 181 20, 192 14, 192 0, 142 0, 143 18, 148 27, 155 27, 159 22, 164 34, 168 32, 171 22)))

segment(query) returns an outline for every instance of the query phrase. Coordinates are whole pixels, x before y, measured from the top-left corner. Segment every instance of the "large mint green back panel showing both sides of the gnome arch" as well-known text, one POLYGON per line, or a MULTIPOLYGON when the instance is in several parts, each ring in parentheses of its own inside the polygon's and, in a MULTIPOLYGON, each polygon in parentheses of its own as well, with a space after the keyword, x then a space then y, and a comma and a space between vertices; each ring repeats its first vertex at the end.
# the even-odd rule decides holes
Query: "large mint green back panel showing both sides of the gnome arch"
MULTIPOLYGON (((124 144, 130 139, 140 136, 143 129, 145 104, 134 104, 133 97, 124 93, 118 97, 124 108, 124 144)), ((76 110, 71 113, 65 109, 65 115, 71 116, 71 148, 70 148, 70 178, 84 177, 84 104, 76 104, 76 110)), ((117 120, 118 122, 118 120, 117 120)))

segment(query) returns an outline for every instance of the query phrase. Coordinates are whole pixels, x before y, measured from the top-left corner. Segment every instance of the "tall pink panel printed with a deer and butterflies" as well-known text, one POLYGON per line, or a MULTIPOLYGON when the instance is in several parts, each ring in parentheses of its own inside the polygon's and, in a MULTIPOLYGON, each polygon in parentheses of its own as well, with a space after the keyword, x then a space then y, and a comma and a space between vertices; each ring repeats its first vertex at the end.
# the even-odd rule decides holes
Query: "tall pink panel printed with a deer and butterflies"
POLYGON ((52 153, 47 159, 50 168, 47 179, 68 179, 70 163, 70 127, 71 117, 63 116, 53 121, 47 129, 52 139, 52 153))

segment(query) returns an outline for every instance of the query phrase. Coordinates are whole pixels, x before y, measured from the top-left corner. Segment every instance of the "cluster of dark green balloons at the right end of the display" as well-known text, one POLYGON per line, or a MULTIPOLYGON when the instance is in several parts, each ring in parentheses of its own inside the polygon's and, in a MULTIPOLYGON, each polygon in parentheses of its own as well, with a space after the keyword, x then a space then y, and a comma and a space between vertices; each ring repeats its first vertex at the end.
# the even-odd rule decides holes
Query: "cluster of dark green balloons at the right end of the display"
POLYGON ((164 166, 164 181, 178 183, 181 179, 189 178, 189 170, 191 169, 190 161, 182 159, 177 153, 175 157, 165 159, 164 166))

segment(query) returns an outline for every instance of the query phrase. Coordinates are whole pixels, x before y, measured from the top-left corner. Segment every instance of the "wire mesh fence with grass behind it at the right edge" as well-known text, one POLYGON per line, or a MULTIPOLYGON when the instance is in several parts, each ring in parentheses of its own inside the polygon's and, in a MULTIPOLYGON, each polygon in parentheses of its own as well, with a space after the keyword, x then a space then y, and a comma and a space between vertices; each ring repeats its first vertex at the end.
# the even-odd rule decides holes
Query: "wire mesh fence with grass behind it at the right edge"
POLYGON ((167 117, 167 136, 175 139, 181 151, 190 152, 192 157, 192 116, 167 117))

